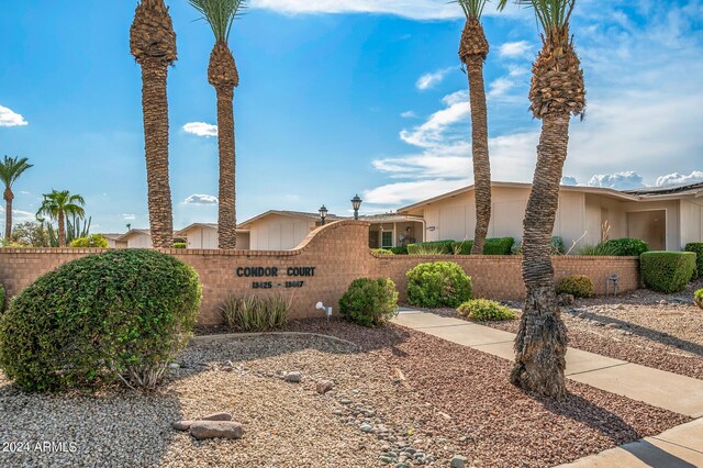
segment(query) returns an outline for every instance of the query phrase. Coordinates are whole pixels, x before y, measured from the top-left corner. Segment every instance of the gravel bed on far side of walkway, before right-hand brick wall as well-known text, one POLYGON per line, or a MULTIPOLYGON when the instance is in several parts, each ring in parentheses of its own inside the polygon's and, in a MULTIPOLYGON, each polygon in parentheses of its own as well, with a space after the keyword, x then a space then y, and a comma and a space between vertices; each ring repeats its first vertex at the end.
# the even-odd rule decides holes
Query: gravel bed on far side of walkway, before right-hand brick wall
MULTIPOLYGON (((639 290, 578 300, 562 308, 569 346, 703 379, 703 310, 692 302, 692 291, 701 287, 699 280, 677 294, 639 290)), ((453 309, 431 312, 461 319, 453 309)), ((520 321, 482 324, 517 333, 520 321)))

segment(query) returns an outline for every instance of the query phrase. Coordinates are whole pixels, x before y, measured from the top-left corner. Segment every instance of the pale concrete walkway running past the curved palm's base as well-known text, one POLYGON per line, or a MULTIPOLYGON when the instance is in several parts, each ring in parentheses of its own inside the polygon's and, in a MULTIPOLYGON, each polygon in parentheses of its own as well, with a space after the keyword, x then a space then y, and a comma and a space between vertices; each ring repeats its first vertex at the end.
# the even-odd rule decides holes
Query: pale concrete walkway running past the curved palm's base
MULTIPOLYGON (((402 309, 393 322, 504 359, 515 358, 513 333, 410 309, 402 309)), ((565 467, 703 467, 703 380, 574 348, 567 350, 566 375, 696 420, 565 467)))

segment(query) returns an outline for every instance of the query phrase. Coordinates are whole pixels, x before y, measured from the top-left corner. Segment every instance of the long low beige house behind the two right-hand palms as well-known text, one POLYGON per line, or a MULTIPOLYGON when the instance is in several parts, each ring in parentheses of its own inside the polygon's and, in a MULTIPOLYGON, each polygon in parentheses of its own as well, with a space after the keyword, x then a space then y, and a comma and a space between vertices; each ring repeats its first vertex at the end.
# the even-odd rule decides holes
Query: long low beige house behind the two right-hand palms
MULTIPOLYGON (((489 237, 522 238, 531 185, 493 182, 489 237)), ((465 187, 398 210, 424 219, 427 241, 471 239, 476 227, 473 186, 465 187)), ((610 238, 637 237, 651 249, 682 249, 703 238, 703 183, 618 191, 562 186, 554 235, 567 247, 610 238)))

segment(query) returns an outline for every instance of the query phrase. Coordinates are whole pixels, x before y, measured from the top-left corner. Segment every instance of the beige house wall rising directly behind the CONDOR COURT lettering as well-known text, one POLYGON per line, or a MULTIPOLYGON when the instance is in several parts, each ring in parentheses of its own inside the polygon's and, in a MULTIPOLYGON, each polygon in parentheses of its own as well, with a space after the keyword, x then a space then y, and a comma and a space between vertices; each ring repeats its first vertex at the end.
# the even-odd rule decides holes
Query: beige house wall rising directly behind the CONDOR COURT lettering
POLYGON ((288 250, 295 248, 315 229, 315 221, 271 214, 247 226, 252 250, 288 250))

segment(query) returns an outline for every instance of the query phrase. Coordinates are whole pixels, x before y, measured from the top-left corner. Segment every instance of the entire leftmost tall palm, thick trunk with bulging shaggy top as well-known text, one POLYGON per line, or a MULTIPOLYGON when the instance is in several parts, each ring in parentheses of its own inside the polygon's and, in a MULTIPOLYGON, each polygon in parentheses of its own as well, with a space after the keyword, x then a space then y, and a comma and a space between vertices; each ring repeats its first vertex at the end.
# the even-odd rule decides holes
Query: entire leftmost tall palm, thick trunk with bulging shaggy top
POLYGON ((130 29, 130 49, 142 67, 142 110, 154 247, 174 243, 171 189, 168 181, 168 67, 178 59, 176 33, 164 0, 137 3, 130 29))

